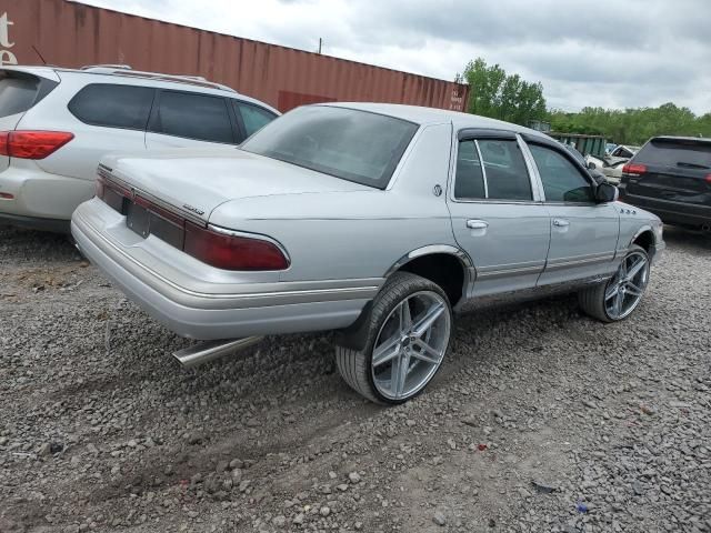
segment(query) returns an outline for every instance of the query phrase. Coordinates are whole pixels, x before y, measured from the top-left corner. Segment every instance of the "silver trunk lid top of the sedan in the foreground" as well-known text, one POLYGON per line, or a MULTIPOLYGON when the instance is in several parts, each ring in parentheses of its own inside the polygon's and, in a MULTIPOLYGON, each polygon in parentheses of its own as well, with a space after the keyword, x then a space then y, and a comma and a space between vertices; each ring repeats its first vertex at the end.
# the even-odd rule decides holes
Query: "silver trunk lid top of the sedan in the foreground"
POLYGON ((240 198, 371 190, 237 148, 113 154, 101 163, 129 187, 204 222, 218 205, 240 198))

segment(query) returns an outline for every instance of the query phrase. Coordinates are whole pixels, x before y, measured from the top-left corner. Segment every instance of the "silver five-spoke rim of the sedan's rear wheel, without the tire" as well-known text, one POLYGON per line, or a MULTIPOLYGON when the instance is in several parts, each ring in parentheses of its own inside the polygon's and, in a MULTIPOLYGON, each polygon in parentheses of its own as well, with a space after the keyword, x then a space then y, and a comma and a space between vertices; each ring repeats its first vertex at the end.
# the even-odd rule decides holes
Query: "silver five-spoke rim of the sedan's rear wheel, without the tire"
POLYGON ((432 379, 447 352, 451 315, 432 291, 402 300, 383 322, 371 358, 373 385, 390 400, 418 393, 432 379))

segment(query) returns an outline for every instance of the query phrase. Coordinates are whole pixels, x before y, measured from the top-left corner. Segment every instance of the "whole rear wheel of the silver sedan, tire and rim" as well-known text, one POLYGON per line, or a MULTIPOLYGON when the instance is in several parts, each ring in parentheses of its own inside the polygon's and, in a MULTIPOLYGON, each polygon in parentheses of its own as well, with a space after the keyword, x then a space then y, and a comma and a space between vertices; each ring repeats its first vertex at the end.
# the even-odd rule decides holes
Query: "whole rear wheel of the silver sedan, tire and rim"
POLYGON ((409 272, 395 272, 373 300, 369 323, 361 333, 364 338, 359 342, 363 349, 336 348, 338 370, 346 383, 372 402, 407 402, 422 392, 440 369, 451 344, 452 324, 452 308, 438 284, 409 272), (410 316, 408 330, 402 326, 408 326, 405 314, 410 316), (415 328, 421 330, 424 320, 435 315, 427 333, 415 340, 415 328), (423 349, 422 343, 438 355, 423 349), (390 344, 392 350, 387 351, 390 344), (387 360, 395 352, 398 355, 387 360), (379 359, 375 364, 374 356, 379 359), (393 374, 404 378, 393 381, 393 374))

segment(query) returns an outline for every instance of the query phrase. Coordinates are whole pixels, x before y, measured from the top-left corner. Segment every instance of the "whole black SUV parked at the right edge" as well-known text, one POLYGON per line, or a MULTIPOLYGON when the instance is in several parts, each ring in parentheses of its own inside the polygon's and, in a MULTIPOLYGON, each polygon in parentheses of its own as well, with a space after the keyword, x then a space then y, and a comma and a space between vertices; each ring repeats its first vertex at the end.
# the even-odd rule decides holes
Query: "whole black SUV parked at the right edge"
POLYGON ((620 200, 668 224, 711 229, 711 139, 654 137, 622 169, 620 200))

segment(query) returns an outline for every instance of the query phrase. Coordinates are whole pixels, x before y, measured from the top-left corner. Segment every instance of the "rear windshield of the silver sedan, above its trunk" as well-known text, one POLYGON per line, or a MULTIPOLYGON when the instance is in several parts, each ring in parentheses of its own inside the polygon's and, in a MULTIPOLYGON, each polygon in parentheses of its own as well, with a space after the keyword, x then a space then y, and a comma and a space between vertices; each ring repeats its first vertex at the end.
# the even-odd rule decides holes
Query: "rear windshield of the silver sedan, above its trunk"
POLYGON ((242 149, 363 185, 384 189, 418 124, 328 105, 298 108, 242 149))

